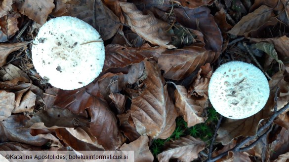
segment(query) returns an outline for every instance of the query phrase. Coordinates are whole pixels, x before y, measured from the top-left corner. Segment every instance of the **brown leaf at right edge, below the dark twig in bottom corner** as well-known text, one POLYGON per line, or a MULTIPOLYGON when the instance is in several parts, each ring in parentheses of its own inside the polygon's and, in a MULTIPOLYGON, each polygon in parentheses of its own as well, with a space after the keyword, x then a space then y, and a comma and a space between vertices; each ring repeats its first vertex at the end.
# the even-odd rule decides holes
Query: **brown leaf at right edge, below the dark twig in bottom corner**
POLYGON ((271 144, 270 159, 277 159, 279 155, 289 152, 289 130, 282 128, 277 139, 271 144))

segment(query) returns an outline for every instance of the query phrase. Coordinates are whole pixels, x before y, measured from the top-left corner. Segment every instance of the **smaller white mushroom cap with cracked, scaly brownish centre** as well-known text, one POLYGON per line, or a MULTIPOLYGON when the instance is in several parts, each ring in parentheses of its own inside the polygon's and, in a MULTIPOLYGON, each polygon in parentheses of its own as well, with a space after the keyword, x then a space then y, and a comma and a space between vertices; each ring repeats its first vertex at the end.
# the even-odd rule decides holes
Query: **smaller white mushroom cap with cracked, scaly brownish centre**
POLYGON ((232 61, 220 65, 210 78, 209 100, 221 115, 244 119, 266 104, 270 89, 263 72, 254 65, 232 61))

